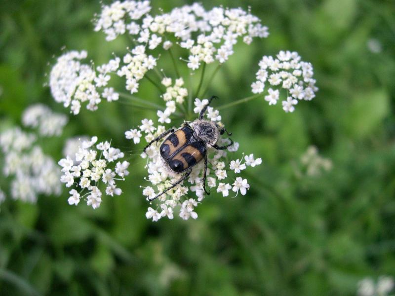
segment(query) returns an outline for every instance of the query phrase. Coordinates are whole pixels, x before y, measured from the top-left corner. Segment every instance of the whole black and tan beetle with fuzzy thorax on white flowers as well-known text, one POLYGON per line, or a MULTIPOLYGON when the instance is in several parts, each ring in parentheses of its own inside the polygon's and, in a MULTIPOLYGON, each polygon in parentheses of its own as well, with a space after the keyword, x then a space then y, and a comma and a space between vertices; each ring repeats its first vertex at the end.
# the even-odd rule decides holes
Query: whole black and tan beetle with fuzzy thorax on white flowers
POLYGON ((223 135, 226 132, 228 136, 231 136, 232 133, 228 133, 224 127, 219 126, 217 123, 211 120, 203 119, 204 114, 207 111, 207 107, 214 98, 218 97, 212 96, 208 100, 208 103, 200 111, 198 119, 190 122, 190 124, 184 122, 181 128, 177 130, 170 128, 169 130, 160 134, 156 139, 152 140, 144 148, 145 152, 146 149, 151 146, 151 144, 158 142, 170 134, 159 147, 163 165, 171 173, 185 173, 184 176, 181 177, 177 182, 166 188, 157 196, 150 198, 150 201, 158 198, 163 193, 166 193, 168 190, 174 188, 187 179, 192 172, 193 166, 195 166, 202 159, 204 159, 203 188, 207 194, 210 194, 210 192, 206 190, 208 164, 207 148, 213 147, 217 150, 224 150, 233 144, 232 139, 230 139, 230 144, 226 146, 218 146, 216 143, 220 135, 223 135))

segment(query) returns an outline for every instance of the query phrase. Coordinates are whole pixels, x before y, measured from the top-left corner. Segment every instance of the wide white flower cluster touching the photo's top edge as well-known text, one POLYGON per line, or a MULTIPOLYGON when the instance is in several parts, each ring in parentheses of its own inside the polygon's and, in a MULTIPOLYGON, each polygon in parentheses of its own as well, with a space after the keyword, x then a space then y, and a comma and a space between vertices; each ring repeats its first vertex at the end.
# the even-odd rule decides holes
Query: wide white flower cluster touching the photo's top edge
POLYGON ((116 1, 102 8, 95 31, 102 30, 107 40, 126 31, 149 49, 172 45, 168 37, 180 40, 189 51, 188 67, 197 70, 201 62, 224 63, 233 54, 238 38, 250 44, 254 37, 268 37, 260 19, 241 8, 214 7, 206 11, 200 3, 174 8, 152 16, 149 1, 116 1), (168 35, 168 37, 166 36, 168 35), (170 35, 170 36, 169 36, 170 35))

